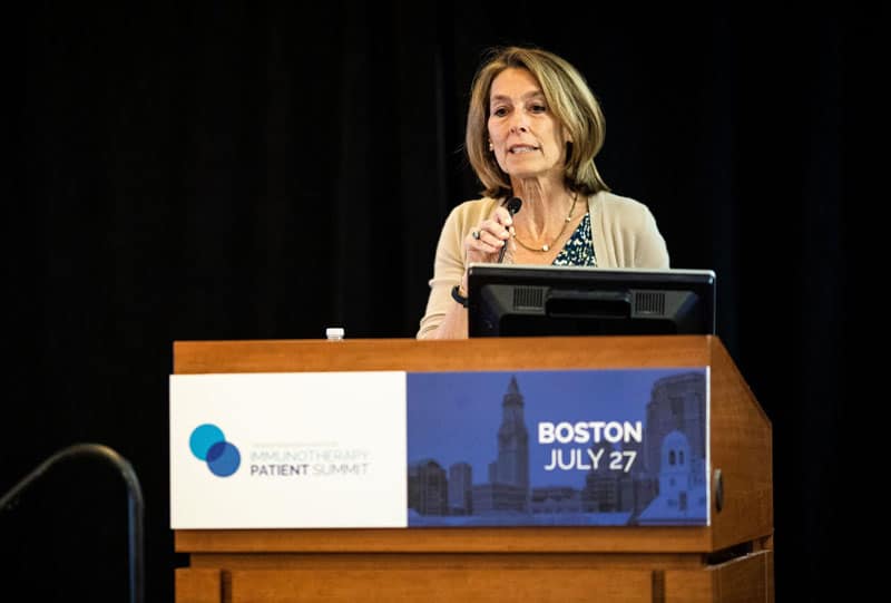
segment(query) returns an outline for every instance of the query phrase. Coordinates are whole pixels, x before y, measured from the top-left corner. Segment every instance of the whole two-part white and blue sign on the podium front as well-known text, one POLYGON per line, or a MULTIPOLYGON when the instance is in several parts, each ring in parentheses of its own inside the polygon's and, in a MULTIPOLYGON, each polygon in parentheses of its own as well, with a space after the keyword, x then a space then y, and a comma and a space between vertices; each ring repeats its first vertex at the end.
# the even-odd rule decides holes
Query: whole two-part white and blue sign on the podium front
POLYGON ((170 377, 174 529, 709 525, 708 368, 170 377))

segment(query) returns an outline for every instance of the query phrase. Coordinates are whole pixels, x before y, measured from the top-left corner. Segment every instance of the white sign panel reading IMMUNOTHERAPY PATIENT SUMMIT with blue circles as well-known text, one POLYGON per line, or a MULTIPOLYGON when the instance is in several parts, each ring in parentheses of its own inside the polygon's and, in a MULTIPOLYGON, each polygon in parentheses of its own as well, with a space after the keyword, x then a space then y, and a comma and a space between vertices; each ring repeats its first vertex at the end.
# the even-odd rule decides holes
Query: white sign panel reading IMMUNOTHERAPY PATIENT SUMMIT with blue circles
POLYGON ((404 372, 174 375, 170 526, 405 527, 404 372))

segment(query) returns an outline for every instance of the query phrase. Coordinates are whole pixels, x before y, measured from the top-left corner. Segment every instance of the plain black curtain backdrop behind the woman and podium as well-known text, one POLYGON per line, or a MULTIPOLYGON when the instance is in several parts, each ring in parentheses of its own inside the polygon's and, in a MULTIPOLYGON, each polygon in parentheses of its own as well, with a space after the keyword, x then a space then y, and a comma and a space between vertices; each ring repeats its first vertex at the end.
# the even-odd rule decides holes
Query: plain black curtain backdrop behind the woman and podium
MULTIPOLYGON (((672 264, 717 272, 718 334, 773 421, 777 597, 829 592, 874 16, 59 4, 4 28, 0 493, 70 444, 118 450, 145 490, 148 597, 170 600, 173 342, 413 337, 442 221, 479 189, 473 69, 536 43, 587 76, 601 173, 649 205, 672 264)), ((7 592, 126 596, 126 494, 98 461, 41 479, 0 543, 7 592)))

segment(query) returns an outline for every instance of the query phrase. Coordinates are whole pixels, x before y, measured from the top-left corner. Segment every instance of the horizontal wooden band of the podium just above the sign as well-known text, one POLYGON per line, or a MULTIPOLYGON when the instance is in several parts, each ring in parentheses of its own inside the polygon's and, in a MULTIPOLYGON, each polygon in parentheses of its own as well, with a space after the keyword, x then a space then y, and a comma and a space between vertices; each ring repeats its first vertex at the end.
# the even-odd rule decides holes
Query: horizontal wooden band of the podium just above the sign
POLYGON ((711 366, 715 335, 174 342, 175 373, 711 366))

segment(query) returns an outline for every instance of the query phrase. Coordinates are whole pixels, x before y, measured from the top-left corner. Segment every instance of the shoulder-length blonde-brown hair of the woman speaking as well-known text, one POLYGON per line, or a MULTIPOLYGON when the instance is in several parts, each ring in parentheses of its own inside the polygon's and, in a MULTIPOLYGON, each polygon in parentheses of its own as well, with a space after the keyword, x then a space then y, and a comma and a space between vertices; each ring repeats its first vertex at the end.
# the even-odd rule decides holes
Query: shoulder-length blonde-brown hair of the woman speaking
POLYGON ((545 100, 571 143, 566 148, 567 188, 584 195, 609 191, 594 157, 604 146, 604 113, 578 70, 547 50, 530 47, 493 48, 473 77, 467 114, 464 148, 470 165, 486 187, 482 194, 499 198, 510 193, 510 178, 489 150, 489 96, 492 80, 508 68, 527 69, 538 80, 545 100))

